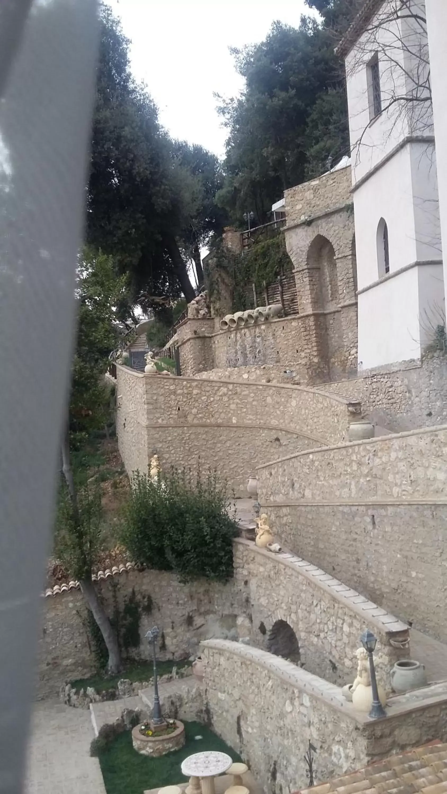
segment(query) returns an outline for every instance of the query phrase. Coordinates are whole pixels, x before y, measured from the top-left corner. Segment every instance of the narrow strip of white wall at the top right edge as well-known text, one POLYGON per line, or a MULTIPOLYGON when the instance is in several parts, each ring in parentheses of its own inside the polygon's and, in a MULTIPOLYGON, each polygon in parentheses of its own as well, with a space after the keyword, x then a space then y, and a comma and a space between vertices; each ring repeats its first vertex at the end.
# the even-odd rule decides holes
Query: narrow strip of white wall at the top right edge
MULTIPOLYGON (((434 105, 434 135, 437 148, 437 179, 441 210, 441 236, 447 251, 447 2, 426 0, 426 20, 430 48, 430 79, 434 105)), ((444 261, 444 285, 447 289, 447 256, 444 261)))

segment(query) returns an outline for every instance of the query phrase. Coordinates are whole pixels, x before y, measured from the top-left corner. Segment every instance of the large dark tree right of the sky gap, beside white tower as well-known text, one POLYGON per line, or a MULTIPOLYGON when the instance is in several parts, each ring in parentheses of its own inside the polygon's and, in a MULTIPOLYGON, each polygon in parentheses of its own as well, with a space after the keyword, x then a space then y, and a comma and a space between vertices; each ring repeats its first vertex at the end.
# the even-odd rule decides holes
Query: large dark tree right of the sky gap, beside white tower
POLYGON ((306 178, 309 162, 321 173, 329 154, 335 160, 349 151, 334 44, 324 21, 302 17, 298 29, 276 22, 260 44, 233 50, 245 91, 218 108, 229 130, 218 201, 238 226, 248 210, 257 223, 270 220, 272 202, 306 178), (322 129, 328 119, 329 135, 322 129))

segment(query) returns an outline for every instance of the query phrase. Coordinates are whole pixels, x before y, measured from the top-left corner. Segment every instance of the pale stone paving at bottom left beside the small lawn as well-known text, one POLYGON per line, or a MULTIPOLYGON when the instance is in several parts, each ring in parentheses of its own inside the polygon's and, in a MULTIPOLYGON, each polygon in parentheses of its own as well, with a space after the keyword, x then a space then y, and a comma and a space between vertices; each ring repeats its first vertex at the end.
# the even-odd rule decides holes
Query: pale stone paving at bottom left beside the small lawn
POLYGON ((90 712, 54 700, 36 703, 29 739, 25 794, 106 794, 90 712))

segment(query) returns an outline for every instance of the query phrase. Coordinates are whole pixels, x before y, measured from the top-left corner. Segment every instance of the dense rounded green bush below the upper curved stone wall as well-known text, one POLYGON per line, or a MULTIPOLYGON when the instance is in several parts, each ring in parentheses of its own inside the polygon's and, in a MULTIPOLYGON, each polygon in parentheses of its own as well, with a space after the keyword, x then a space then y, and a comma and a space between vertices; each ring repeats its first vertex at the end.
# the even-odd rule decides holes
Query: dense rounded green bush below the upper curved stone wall
POLYGON ((175 571, 182 581, 233 576, 237 526, 213 472, 203 480, 200 470, 192 477, 172 469, 157 484, 137 472, 132 485, 122 535, 135 561, 175 571))

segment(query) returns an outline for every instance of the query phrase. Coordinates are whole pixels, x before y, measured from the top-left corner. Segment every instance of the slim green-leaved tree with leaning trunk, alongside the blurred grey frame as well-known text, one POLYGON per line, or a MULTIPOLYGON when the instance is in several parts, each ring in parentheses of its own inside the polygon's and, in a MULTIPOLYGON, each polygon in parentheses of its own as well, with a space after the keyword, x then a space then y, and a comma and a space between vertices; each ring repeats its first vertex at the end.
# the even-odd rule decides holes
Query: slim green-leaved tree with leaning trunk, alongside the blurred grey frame
POLYGON ((102 633, 109 652, 108 670, 117 673, 121 657, 116 632, 98 599, 91 578, 92 565, 101 538, 101 495, 93 495, 88 484, 76 483, 71 468, 70 437, 87 435, 102 426, 106 395, 101 378, 114 349, 117 332, 115 306, 126 291, 125 276, 117 279, 108 256, 87 251, 78 268, 79 328, 72 367, 67 432, 62 442, 62 471, 56 518, 56 553, 80 588, 102 633))

